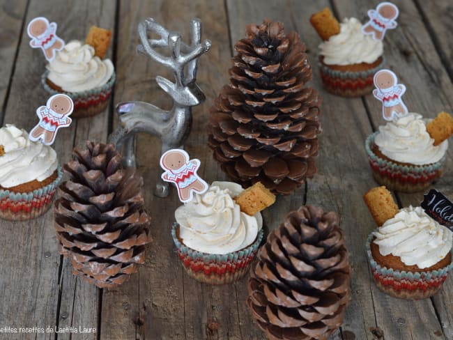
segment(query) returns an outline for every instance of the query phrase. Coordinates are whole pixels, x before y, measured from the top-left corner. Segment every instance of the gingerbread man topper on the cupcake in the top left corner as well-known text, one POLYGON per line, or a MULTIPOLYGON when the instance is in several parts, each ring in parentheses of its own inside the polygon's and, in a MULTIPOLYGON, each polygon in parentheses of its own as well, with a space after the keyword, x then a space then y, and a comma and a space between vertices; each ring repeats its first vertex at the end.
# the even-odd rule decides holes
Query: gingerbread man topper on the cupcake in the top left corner
POLYGON ((47 61, 52 61, 56 51, 65 47, 65 42, 56 36, 56 23, 49 22, 45 17, 31 20, 26 27, 26 33, 29 33, 31 38, 30 46, 42 49, 47 61))

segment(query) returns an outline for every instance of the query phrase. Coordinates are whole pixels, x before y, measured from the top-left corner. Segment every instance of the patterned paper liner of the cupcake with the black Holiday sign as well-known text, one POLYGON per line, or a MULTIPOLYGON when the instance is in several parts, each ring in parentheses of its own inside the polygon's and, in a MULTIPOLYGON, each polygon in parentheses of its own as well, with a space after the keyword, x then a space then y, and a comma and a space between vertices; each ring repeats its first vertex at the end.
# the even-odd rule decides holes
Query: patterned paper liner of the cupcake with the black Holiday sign
MULTIPOLYGON (((377 229, 376 229, 377 230, 377 229)), ((434 295, 447 279, 453 263, 439 270, 429 272, 406 272, 378 265, 371 254, 370 243, 373 240, 371 233, 367 238, 367 256, 371 265, 376 286, 384 293, 406 300, 426 299, 434 295)))

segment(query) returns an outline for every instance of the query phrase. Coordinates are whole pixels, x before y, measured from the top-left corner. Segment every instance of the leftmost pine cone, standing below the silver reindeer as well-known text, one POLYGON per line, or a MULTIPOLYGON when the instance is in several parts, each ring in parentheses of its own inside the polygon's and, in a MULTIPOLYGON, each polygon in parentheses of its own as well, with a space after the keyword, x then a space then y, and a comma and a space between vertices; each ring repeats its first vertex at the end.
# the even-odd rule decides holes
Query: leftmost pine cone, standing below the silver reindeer
POLYGON ((105 288, 122 284, 144 263, 150 218, 135 169, 122 168, 111 144, 86 146, 63 166, 70 179, 59 185, 54 225, 72 272, 105 288))

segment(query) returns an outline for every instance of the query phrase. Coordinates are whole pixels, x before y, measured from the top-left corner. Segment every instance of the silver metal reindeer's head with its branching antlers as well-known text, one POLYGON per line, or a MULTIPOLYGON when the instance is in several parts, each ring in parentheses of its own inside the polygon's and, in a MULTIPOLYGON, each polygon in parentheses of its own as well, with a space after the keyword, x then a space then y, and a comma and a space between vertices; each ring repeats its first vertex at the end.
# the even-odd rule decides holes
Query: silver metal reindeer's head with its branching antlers
POLYGON ((152 18, 139 23, 139 37, 141 45, 137 51, 147 54, 158 63, 167 66, 174 72, 175 82, 164 77, 156 77, 156 82, 171 98, 181 106, 199 105, 205 97, 196 84, 197 58, 208 52, 210 40, 201 42, 201 21, 190 22, 191 45, 181 41, 179 33, 169 32, 152 18), (157 33, 160 39, 148 39, 148 32, 157 33), (170 50, 170 56, 164 56, 155 51, 155 47, 164 47, 170 50), (186 68, 187 66, 187 68, 186 68))

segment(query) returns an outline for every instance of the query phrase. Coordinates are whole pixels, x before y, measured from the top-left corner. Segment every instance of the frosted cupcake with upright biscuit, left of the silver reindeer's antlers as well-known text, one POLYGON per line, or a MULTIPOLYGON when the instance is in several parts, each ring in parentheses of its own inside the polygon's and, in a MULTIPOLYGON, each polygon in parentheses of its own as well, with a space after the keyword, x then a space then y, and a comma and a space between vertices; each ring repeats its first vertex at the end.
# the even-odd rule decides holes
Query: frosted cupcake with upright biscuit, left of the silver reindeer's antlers
POLYGON ((45 90, 52 95, 65 93, 74 101, 72 117, 81 118, 99 114, 108 105, 115 82, 114 65, 102 59, 107 52, 111 32, 92 27, 86 43, 68 42, 56 52, 43 74, 45 90))

